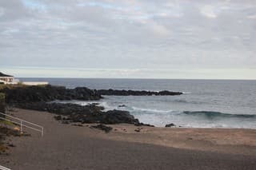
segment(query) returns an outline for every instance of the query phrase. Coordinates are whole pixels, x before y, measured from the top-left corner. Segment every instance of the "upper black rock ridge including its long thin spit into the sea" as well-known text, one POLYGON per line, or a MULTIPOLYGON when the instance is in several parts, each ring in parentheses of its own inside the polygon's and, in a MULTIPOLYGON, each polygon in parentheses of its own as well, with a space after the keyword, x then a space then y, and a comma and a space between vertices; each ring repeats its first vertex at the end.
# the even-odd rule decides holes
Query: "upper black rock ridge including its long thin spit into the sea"
POLYGON ((0 89, 0 93, 5 93, 6 103, 20 102, 40 102, 54 100, 82 100, 97 101, 102 98, 101 95, 109 96, 174 96, 181 95, 181 92, 150 92, 134 90, 100 89, 92 90, 86 87, 77 87, 75 89, 66 89, 62 86, 53 85, 34 85, 34 86, 14 86, 0 89))

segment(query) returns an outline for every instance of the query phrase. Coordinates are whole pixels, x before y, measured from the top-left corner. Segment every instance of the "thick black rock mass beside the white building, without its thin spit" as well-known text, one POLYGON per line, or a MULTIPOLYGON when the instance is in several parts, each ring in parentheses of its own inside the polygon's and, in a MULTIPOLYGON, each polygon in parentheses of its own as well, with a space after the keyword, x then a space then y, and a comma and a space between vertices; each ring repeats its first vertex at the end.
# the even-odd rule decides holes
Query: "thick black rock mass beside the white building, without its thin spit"
POLYGON ((75 89, 66 89, 62 86, 18 86, 14 88, 4 88, 0 93, 6 94, 6 103, 24 103, 24 102, 40 102, 54 100, 99 100, 102 98, 96 90, 86 87, 78 87, 75 89))

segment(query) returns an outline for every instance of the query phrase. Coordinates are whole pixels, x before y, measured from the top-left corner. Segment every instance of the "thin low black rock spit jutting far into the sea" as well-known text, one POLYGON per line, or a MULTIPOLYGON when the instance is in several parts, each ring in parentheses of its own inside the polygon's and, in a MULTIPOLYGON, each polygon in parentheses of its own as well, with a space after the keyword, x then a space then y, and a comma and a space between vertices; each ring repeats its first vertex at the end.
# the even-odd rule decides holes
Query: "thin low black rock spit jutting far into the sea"
POLYGON ((118 90, 118 89, 99 89, 97 90, 98 94, 106 96, 174 96, 181 95, 182 92, 170 92, 167 90, 160 92, 151 92, 151 91, 135 91, 135 90, 118 90))

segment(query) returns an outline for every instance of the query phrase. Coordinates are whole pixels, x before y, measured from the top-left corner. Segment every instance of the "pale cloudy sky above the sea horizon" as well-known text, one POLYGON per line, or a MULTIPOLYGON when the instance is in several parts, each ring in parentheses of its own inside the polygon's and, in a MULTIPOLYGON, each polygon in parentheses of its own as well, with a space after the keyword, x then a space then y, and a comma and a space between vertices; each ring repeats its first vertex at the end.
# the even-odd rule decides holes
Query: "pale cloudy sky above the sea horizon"
POLYGON ((256 79, 256 1, 1 0, 16 77, 256 79))

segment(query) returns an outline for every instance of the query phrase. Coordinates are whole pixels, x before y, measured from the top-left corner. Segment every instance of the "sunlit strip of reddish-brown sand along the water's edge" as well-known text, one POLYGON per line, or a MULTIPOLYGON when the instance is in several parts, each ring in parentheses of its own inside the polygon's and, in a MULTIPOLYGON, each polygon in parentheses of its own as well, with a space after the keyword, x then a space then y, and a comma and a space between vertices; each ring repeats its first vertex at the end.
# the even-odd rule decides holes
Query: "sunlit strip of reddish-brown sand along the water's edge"
POLYGON ((256 155, 256 129, 239 128, 159 128, 134 125, 108 125, 117 129, 109 140, 154 144, 204 152, 256 155), (125 129, 125 130, 124 130, 125 129), (140 129, 139 132, 135 130, 140 129))

